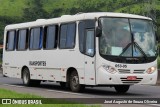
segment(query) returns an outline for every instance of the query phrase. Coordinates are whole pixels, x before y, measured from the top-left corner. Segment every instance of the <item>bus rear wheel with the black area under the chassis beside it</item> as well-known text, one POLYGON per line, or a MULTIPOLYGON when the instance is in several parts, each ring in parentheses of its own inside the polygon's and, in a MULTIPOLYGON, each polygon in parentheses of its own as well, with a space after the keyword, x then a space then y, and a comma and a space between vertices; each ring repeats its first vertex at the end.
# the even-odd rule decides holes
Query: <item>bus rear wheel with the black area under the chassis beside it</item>
POLYGON ((23 80, 23 84, 26 86, 38 86, 40 85, 40 80, 31 80, 30 79, 30 73, 28 68, 24 68, 23 72, 22 72, 22 80, 23 80))

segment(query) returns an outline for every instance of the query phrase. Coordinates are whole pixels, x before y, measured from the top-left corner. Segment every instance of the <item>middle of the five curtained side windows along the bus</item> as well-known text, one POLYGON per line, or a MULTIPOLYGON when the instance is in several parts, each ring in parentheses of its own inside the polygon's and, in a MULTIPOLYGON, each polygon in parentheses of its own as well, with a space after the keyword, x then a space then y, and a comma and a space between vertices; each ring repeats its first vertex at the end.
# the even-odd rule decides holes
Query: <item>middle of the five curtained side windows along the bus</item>
POLYGON ((42 48, 42 28, 33 28, 30 32, 30 49, 42 48))

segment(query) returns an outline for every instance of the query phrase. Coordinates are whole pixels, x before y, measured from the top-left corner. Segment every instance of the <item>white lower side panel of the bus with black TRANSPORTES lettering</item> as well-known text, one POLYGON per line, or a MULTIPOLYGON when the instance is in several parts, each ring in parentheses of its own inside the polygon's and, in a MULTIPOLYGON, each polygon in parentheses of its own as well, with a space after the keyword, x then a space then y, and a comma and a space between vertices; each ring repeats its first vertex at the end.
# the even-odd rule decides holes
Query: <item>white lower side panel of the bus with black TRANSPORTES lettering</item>
MULTIPOLYGON (((78 28, 77 28, 78 29, 78 28)), ((78 35, 78 31, 76 32, 78 35)), ((5 46, 4 36, 4 46, 5 46)), ((3 67, 9 77, 21 78, 22 67, 28 67, 31 79, 66 81, 68 68, 75 68, 79 75, 80 84, 85 84, 84 55, 79 51, 78 36, 74 49, 52 49, 52 50, 24 50, 6 51, 4 49, 3 67), (30 62, 45 62, 33 64, 30 62)))

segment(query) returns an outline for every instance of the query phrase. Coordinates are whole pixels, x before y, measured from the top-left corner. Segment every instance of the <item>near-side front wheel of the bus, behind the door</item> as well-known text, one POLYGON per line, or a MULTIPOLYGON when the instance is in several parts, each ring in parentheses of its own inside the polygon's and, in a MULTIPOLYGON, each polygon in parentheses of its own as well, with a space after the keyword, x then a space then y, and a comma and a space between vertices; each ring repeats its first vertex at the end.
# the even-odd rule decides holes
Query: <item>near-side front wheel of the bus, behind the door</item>
POLYGON ((76 71, 71 72, 70 75, 70 89, 73 92, 81 92, 83 91, 85 88, 84 85, 81 85, 79 83, 79 77, 78 77, 78 73, 76 71))

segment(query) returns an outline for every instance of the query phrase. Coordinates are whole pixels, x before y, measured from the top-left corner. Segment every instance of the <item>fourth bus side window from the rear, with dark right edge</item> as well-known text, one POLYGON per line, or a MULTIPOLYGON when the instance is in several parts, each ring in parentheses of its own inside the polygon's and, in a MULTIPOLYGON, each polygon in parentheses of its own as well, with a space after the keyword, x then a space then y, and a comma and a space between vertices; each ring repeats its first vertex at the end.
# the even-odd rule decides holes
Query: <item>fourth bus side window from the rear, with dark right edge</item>
POLYGON ((44 48, 53 49, 57 47, 58 26, 45 27, 44 48))

